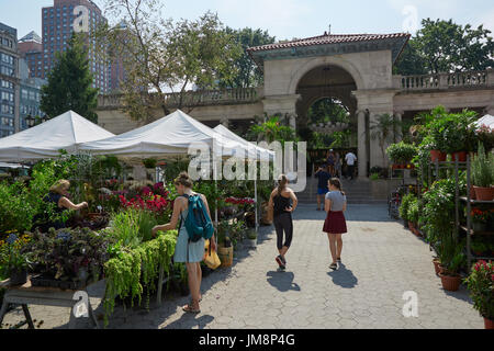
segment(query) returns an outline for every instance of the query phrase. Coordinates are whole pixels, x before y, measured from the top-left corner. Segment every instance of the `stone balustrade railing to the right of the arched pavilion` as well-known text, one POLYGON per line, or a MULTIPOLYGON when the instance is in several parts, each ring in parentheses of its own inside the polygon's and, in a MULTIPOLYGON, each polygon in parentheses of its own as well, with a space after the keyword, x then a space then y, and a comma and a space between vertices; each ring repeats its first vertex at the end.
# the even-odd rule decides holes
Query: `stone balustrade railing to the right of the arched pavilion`
POLYGON ((393 76, 393 81, 394 88, 404 91, 484 87, 494 84, 494 71, 393 76))

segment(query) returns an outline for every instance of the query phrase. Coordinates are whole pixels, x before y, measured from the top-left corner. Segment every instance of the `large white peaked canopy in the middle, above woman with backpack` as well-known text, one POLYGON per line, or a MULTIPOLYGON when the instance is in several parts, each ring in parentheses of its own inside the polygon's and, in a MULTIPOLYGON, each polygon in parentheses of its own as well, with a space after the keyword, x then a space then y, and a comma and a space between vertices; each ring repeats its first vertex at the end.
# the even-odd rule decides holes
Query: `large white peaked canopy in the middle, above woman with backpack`
POLYGON ((124 158, 165 158, 188 154, 193 143, 204 143, 210 148, 216 145, 221 156, 245 148, 240 143, 224 137, 177 110, 139 128, 103 140, 86 143, 80 149, 93 155, 110 154, 124 158))

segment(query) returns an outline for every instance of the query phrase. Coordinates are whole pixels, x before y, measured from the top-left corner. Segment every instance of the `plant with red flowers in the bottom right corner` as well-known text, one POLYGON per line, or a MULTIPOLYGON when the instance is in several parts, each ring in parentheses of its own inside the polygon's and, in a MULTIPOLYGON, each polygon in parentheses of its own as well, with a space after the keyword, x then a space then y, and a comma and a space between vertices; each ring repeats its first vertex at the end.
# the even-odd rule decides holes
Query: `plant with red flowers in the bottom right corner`
POLYGON ((485 329, 494 329, 494 264, 492 261, 476 262, 465 279, 473 308, 484 318, 485 329))

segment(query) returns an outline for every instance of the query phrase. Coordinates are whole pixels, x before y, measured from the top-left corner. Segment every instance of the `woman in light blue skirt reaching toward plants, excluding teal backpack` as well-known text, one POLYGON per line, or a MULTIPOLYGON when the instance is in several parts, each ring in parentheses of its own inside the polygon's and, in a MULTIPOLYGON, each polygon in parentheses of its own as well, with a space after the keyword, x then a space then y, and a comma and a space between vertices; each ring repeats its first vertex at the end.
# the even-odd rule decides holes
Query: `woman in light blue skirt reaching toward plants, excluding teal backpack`
MULTIPOLYGON (((157 225, 153 228, 151 235, 156 236, 158 230, 172 230, 177 228, 180 217, 179 236, 177 238, 177 245, 175 248, 173 262, 186 262, 189 288, 192 296, 190 304, 182 307, 187 313, 198 314, 201 312, 199 303, 202 299, 201 296, 201 261, 204 257, 204 239, 189 242, 189 234, 186 228, 186 218, 189 212, 189 196, 197 195, 192 192, 192 179, 187 172, 181 172, 173 181, 177 189, 177 199, 173 202, 173 213, 171 214, 170 223, 166 225, 157 225)), ((199 194, 211 218, 210 207, 207 205, 207 199, 203 194, 199 194)), ((215 236, 210 240, 211 249, 216 250, 215 236)))

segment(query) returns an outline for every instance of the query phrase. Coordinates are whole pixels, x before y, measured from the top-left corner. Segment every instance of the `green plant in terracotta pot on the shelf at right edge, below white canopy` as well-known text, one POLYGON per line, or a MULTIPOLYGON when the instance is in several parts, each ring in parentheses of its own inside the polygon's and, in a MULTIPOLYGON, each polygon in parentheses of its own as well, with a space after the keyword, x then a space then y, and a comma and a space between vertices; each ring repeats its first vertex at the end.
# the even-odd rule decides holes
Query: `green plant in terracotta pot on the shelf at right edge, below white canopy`
POLYGON ((472 160, 472 181, 478 200, 494 200, 494 155, 489 152, 486 156, 480 143, 478 155, 472 160))

